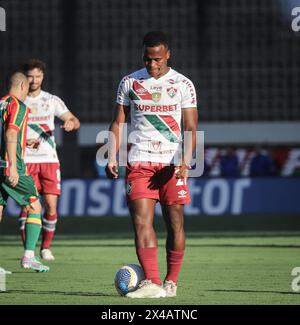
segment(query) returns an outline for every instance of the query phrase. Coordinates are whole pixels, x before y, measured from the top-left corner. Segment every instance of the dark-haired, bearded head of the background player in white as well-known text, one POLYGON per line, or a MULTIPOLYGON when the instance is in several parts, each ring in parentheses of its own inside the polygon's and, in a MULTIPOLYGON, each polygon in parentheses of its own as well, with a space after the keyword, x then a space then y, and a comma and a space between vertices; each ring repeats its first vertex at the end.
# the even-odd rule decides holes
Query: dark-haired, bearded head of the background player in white
POLYGON ((23 71, 29 81, 30 92, 41 89, 45 70, 45 63, 38 59, 30 59, 23 65, 23 71))

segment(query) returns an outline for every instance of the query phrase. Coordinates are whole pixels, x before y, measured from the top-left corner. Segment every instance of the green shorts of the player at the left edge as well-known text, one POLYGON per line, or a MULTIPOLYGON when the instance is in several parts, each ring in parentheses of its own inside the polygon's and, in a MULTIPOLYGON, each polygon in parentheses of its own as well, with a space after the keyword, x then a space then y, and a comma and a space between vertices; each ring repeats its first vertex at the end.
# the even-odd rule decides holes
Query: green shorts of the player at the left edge
POLYGON ((0 205, 7 204, 10 196, 20 206, 30 205, 39 197, 37 188, 31 176, 20 176, 16 187, 12 187, 7 176, 1 177, 0 186, 0 205))

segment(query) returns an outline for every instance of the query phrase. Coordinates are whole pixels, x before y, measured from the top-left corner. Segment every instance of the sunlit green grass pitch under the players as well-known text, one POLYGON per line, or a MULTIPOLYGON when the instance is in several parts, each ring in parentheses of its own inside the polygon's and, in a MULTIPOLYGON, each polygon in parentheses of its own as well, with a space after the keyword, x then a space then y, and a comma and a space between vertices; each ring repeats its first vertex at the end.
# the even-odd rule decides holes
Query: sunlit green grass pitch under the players
MULTIPOLYGON (((57 236, 56 260, 49 273, 19 266, 19 237, 0 237, 0 266, 7 275, 3 304, 218 305, 299 304, 291 271, 300 266, 299 233, 187 233, 186 255, 176 298, 129 300, 118 296, 114 275, 137 263, 131 233, 109 236, 57 236)), ((166 272, 164 234, 159 236, 159 266, 166 272)))

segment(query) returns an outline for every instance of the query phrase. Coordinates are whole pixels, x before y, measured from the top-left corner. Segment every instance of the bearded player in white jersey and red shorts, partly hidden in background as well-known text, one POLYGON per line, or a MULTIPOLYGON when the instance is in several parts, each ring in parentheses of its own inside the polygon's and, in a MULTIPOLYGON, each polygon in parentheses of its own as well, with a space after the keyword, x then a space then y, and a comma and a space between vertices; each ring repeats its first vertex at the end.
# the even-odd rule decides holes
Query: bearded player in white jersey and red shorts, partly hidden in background
MULTIPOLYGON (((31 59, 23 66, 29 81, 29 94, 25 103, 30 107, 28 121, 28 139, 35 139, 39 144, 25 150, 25 163, 30 175, 43 195, 45 214, 42 218, 41 258, 54 260, 50 250, 57 223, 57 201, 61 193, 60 165, 54 138, 54 119, 58 117, 64 123, 61 126, 66 132, 77 130, 80 122, 66 107, 64 102, 42 90, 45 64, 31 59)), ((25 210, 19 217, 20 231, 25 241, 24 223, 27 217, 25 210)))

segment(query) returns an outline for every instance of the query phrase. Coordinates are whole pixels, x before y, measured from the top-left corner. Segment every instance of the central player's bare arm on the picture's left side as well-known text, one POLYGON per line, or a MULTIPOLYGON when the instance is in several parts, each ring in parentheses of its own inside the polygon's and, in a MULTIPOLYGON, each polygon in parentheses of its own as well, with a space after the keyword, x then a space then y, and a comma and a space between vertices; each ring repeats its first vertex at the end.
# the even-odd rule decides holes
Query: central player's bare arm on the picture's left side
POLYGON ((109 158, 105 169, 108 178, 118 177, 117 154, 122 141, 122 125, 127 120, 128 112, 129 106, 117 104, 115 116, 109 128, 109 158))

